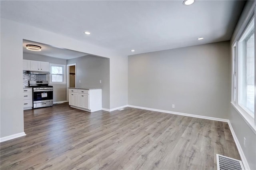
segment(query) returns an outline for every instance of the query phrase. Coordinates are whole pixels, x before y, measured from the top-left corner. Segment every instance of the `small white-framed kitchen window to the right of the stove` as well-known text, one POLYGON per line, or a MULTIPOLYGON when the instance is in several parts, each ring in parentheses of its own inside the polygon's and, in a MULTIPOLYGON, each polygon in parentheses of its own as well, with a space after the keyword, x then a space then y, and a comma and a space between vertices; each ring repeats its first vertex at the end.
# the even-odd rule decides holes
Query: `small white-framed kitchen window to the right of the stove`
POLYGON ((66 65, 50 63, 50 83, 66 83, 66 65))

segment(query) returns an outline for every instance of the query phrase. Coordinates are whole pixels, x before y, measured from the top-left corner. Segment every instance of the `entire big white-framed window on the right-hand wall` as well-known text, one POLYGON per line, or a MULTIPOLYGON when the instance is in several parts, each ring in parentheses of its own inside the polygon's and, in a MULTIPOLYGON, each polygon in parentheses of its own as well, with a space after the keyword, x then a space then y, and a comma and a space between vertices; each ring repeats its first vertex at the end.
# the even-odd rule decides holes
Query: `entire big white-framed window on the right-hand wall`
POLYGON ((256 130, 255 117, 255 19, 248 22, 232 46, 232 105, 256 130))

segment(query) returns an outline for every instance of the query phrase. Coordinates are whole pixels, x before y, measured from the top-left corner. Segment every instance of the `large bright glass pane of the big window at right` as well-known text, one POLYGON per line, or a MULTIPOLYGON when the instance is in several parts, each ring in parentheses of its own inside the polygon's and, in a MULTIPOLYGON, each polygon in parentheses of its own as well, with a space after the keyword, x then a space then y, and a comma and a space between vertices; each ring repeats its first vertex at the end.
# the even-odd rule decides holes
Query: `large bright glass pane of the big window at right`
POLYGON ((254 24, 240 45, 240 104, 254 114, 254 24))

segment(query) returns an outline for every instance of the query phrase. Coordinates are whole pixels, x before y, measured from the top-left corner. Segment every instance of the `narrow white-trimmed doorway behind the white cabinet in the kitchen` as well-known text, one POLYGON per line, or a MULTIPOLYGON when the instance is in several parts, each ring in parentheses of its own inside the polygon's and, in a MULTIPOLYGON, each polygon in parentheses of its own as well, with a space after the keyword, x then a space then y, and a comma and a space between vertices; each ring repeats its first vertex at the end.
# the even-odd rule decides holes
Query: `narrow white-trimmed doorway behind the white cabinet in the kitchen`
POLYGON ((76 87, 76 63, 67 65, 67 101, 68 87, 76 87))

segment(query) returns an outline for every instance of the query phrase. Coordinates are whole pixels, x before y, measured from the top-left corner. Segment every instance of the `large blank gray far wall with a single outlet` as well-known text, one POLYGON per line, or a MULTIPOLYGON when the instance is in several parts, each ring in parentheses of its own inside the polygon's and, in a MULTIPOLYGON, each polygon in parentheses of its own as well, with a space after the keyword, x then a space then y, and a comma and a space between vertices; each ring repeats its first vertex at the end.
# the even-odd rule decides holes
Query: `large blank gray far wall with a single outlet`
POLYGON ((229 47, 228 41, 128 56, 128 105, 227 119, 229 47))

